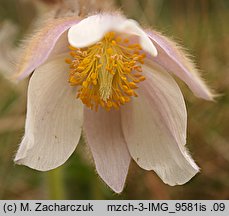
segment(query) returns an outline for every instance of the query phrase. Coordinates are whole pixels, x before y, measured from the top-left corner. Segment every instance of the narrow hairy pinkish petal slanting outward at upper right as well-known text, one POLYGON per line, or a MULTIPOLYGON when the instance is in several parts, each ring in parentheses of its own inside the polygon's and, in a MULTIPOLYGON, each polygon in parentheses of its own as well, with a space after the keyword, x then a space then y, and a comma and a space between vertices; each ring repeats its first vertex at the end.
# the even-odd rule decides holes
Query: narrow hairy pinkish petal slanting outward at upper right
POLYGON ((197 97, 213 100, 211 91, 198 74, 195 65, 175 42, 155 31, 149 31, 148 36, 158 51, 158 56, 153 61, 183 80, 197 97))

